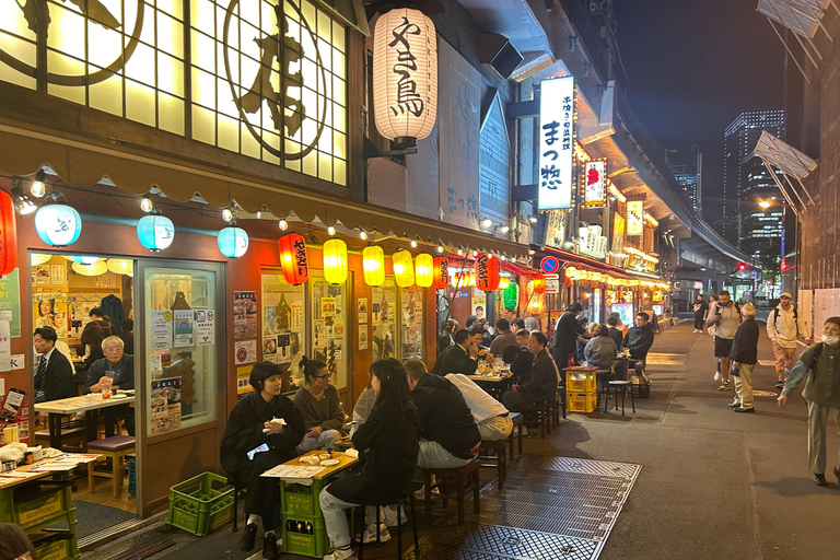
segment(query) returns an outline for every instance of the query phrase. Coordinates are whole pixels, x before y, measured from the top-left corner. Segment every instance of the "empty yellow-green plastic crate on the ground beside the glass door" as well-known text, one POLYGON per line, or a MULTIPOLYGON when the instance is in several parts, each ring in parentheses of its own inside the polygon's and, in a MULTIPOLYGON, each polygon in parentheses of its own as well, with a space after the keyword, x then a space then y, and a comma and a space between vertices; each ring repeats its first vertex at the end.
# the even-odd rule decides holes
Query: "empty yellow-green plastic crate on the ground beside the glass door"
POLYGON ((202 537, 233 518, 232 486, 224 477, 203 472, 170 488, 166 523, 202 537))

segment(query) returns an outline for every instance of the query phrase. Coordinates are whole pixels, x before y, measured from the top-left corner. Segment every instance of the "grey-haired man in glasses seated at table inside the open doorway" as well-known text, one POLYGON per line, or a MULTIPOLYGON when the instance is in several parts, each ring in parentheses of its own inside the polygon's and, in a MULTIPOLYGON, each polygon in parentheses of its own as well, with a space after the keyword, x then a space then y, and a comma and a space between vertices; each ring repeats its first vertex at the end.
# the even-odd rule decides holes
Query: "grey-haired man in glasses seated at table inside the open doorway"
MULTIPOLYGON (((101 358, 88 369, 88 381, 84 382, 85 393, 102 393, 105 390, 135 388, 135 357, 122 353, 125 342, 116 336, 102 341, 101 358)), ((114 407, 114 415, 125 420, 126 431, 135 435, 135 409, 128 405, 114 407)))

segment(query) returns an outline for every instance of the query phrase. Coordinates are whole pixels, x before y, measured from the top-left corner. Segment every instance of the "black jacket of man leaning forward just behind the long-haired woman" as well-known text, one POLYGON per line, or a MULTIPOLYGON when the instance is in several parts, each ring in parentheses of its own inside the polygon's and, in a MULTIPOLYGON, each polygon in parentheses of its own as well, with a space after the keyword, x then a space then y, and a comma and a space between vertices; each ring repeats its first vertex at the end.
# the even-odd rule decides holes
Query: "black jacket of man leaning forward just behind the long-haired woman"
POLYGON ((411 392, 411 401, 420 420, 420 438, 438 442, 462 458, 481 441, 464 395, 450 380, 423 375, 411 392))

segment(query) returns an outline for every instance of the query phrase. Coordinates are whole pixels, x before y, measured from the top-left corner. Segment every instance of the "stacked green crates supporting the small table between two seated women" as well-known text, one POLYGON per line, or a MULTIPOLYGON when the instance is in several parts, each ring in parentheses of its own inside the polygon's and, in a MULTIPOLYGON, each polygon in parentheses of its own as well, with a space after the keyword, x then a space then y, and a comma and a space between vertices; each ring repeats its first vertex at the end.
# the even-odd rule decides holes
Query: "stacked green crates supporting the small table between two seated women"
POLYGON ((312 486, 280 481, 283 552, 322 558, 329 551, 329 538, 318 502, 325 486, 325 481, 318 479, 313 479, 312 486))

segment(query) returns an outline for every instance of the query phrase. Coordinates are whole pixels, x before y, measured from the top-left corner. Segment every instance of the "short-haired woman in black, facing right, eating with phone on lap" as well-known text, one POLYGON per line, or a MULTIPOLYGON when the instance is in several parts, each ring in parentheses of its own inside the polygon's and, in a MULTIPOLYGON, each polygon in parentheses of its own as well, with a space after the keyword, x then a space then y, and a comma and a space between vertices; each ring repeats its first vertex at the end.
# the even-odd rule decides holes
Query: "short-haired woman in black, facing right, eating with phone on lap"
POLYGON ((222 436, 222 468, 247 489, 245 515, 247 521, 240 550, 254 549, 257 518, 262 517, 262 558, 277 558, 277 535, 280 526, 280 485, 276 478, 260 477, 266 470, 295 456, 294 447, 304 434, 303 416, 294 404, 280 394, 280 368, 270 362, 250 370, 249 393, 240 400, 228 419, 222 436), (272 422, 282 419, 283 422, 272 422), (256 452, 250 454, 249 452, 256 452))

